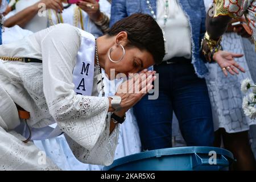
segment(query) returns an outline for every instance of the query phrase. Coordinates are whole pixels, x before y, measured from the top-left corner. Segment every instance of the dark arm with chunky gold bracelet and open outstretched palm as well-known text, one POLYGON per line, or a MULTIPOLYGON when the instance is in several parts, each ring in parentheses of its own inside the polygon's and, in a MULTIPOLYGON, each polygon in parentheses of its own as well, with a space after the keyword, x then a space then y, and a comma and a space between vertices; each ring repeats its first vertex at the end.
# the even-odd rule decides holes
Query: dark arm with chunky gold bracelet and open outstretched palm
POLYGON ((242 57, 241 54, 222 51, 221 38, 226 32, 229 23, 234 18, 233 14, 225 8, 225 0, 215 0, 209 9, 206 19, 207 32, 202 42, 202 51, 209 63, 216 62, 221 67, 225 76, 239 74, 245 70, 236 63, 234 58, 242 57), (214 15, 210 11, 214 10, 214 15))

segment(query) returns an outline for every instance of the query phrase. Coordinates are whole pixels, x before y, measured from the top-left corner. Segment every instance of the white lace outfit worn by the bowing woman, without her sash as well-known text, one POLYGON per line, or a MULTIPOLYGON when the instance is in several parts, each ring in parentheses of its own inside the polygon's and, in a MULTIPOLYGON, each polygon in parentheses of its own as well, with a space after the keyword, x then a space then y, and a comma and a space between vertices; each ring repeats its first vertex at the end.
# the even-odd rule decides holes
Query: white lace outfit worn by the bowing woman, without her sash
POLYGON ((6 100, 9 96, 9 105, 0 109, 0 135, 4 139, 0 144, 0 169, 57 169, 48 159, 39 164, 40 150, 33 143, 20 142, 22 137, 13 131, 20 122, 14 102, 30 112, 30 127, 56 122, 82 163, 113 162, 119 127, 109 134, 108 98, 97 97, 95 79, 93 96, 73 91, 72 70, 80 43, 81 35, 75 27, 59 24, 0 47, 0 56, 43 59, 43 64, 0 60, 1 92, 5 93, 0 97, 6 100))

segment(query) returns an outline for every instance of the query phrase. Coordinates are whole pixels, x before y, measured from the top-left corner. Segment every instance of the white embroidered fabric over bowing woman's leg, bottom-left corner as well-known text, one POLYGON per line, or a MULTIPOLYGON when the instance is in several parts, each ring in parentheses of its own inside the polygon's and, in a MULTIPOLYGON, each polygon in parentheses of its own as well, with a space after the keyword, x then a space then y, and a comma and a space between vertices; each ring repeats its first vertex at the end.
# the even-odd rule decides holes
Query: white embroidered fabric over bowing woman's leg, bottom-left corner
POLYGON ((60 170, 34 143, 23 143, 24 137, 0 126, 0 171, 60 170), (3 142, 5 141, 5 142, 3 142))

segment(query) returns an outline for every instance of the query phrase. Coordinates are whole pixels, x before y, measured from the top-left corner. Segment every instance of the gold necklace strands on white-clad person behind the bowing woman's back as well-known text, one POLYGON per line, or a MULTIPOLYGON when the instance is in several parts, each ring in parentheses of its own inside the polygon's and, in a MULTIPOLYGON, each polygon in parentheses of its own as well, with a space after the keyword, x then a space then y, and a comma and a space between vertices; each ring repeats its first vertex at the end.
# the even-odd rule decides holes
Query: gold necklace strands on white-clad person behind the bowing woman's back
MULTIPOLYGON (((53 11, 53 12, 55 13, 57 23, 64 23, 62 14, 61 13, 57 14, 56 11, 53 11)), ((81 28, 82 28, 82 30, 84 30, 82 10, 80 9, 80 7, 76 6, 74 9, 74 14, 73 14, 73 26, 79 27, 79 23, 78 23, 79 20, 80 20, 81 28)), ((49 22, 50 26, 55 25, 55 23, 53 23, 53 19, 52 19, 52 10, 48 10, 48 22, 49 22)))

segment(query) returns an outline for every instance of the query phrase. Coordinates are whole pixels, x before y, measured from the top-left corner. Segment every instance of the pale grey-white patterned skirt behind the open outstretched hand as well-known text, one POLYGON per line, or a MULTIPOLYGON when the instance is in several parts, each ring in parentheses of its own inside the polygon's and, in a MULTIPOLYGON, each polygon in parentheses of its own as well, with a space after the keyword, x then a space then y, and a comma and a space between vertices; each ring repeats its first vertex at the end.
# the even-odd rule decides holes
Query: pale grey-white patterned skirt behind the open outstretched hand
POLYGON ((212 104, 214 130, 224 128, 227 133, 248 131, 251 125, 256 125, 256 119, 250 119, 243 113, 243 93, 240 88, 241 81, 247 77, 252 78, 251 73, 255 72, 255 69, 249 67, 251 61, 255 65, 254 45, 235 33, 227 33, 223 36, 222 47, 225 51, 245 55, 236 61, 246 72, 225 77, 217 63, 208 64, 209 75, 205 80, 212 104), (251 55, 246 52, 246 47, 250 49, 247 52, 251 55))

